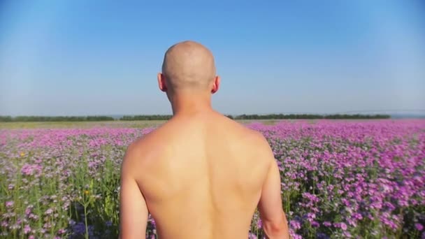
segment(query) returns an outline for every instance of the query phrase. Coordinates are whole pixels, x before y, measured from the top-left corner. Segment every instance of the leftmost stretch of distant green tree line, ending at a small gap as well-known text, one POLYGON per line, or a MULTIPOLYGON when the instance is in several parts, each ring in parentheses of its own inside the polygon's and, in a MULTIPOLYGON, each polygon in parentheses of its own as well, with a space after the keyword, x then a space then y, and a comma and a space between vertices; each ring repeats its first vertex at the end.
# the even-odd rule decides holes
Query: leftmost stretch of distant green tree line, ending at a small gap
POLYGON ((110 121, 109 116, 0 116, 0 122, 77 122, 77 121, 110 121))

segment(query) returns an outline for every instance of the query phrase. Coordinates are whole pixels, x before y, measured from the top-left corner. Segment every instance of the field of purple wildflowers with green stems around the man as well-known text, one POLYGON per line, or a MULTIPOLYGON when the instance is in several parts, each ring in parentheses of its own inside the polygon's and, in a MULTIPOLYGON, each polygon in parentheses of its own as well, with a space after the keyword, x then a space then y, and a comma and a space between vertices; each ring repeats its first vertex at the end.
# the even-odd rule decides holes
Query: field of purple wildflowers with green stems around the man
MULTIPOLYGON (((425 238, 424 120, 248 126, 278 160, 293 238, 425 238)), ((117 238, 124 150, 150 130, 1 129, 0 238, 117 238)))

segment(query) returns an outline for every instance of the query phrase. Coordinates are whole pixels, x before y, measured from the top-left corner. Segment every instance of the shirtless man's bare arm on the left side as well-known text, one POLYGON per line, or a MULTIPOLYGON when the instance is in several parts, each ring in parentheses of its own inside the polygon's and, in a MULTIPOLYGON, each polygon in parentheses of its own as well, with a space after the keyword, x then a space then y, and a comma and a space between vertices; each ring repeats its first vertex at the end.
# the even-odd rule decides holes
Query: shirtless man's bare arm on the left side
POLYGON ((134 145, 127 149, 121 169, 120 238, 145 238, 147 206, 133 177, 134 145))

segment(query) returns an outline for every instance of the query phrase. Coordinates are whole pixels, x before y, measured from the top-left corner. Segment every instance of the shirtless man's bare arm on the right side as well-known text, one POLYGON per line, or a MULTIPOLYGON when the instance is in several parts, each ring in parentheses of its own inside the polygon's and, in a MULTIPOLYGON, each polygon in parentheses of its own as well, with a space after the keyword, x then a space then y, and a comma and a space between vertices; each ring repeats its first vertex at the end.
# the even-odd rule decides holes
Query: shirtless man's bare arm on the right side
POLYGON ((289 238, 287 218, 282 208, 279 168, 270 147, 267 148, 266 157, 271 166, 268 169, 258 204, 264 233, 266 233, 266 238, 270 239, 289 238))

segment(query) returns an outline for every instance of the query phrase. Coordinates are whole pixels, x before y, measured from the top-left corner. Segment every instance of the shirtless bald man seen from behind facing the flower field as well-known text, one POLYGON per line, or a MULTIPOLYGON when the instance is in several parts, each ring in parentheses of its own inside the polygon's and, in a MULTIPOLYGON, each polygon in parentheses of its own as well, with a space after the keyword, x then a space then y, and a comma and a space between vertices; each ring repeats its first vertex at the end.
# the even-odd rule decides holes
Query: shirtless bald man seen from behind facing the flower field
POLYGON ((289 238, 268 142, 211 107, 220 79, 210 50, 193 41, 173 45, 158 83, 173 117, 127 149, 120 237, 145 238, 150 212, 161 239, 246 239, 258 206, 268 238, 289 238))

